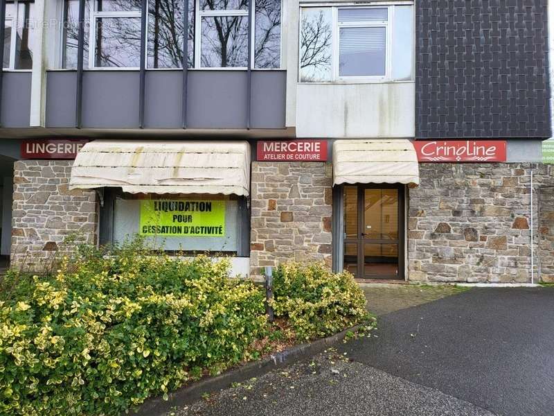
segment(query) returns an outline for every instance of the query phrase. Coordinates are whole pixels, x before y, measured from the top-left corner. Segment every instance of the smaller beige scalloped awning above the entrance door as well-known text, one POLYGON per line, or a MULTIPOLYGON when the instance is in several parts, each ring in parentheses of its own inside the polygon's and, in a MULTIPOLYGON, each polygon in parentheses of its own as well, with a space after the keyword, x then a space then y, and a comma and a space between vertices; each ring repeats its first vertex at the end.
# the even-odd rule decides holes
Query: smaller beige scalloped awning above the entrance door
POLYGON ((334 184, 420 183, 418 155, 404 139, 337 140, 333 144, 334 184))

